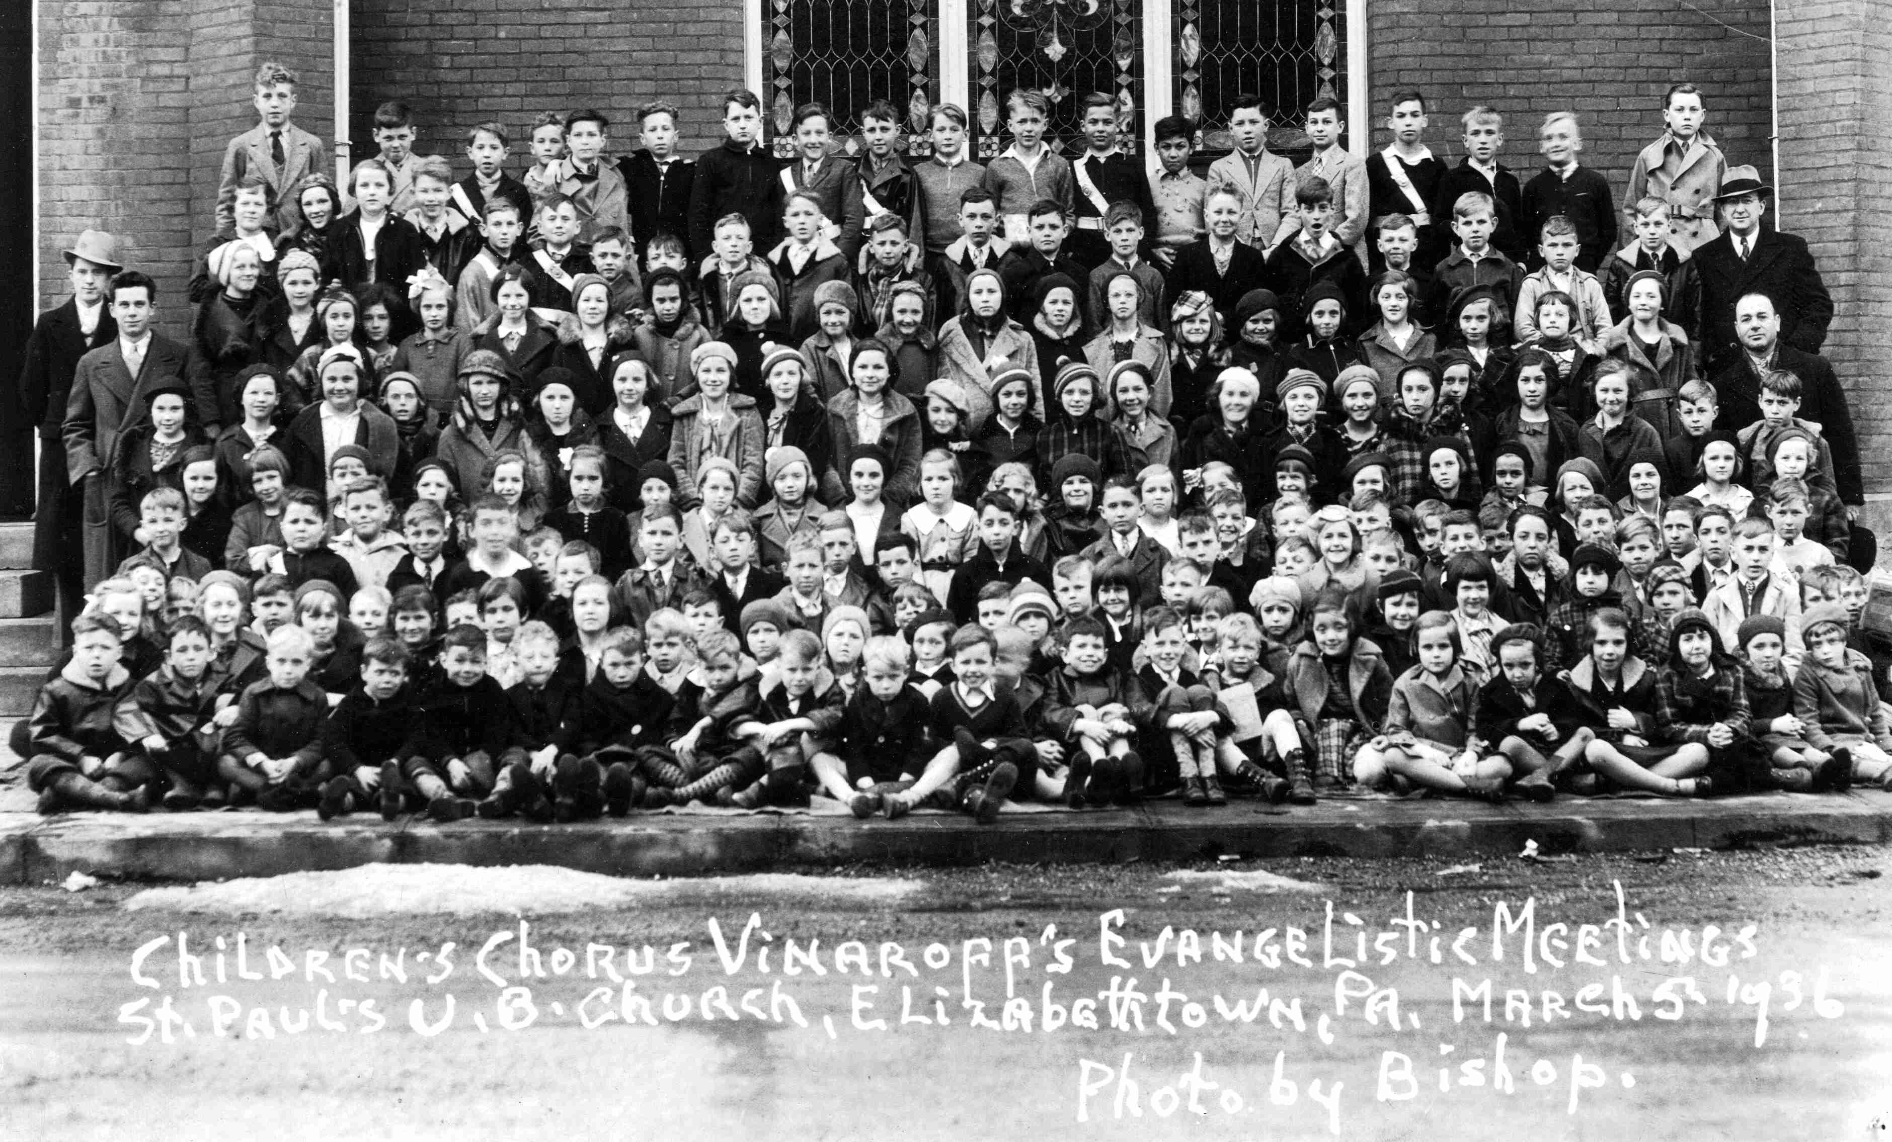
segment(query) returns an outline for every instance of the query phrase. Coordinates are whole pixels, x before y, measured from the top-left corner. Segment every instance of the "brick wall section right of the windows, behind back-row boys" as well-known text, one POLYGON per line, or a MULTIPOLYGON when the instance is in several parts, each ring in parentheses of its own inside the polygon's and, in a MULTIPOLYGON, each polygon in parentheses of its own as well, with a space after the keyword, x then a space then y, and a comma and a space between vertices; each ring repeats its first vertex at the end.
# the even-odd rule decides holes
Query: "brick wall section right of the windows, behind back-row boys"
POLYGON ((1707 130, 1727 161, 1771 170, 1769 0, 1693 8, 1712 15, 1646 0, 1368 0, 1374 146, 1387 144, 1387 98, 1417 87, 1432 153, 1457 164, 1459 115, 1489 104, 1504 113, 1500 157, 1529 180, 1544 115, 1574 110, 1584 164, 1620 199, 1637 151, 1663 130, 1663 93, 1686 79, 1707 96, 1707 130))

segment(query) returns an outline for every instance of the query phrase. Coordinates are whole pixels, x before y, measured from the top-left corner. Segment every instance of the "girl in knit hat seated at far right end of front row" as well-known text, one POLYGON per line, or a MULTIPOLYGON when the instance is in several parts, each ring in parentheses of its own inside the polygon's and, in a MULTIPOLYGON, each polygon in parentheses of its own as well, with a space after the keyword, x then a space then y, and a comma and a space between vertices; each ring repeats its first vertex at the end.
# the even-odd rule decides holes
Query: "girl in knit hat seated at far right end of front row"
POLYGON ((1794 677, 1794 713, 1809 743, 1841 766, 1850 762, 1850 781, 1892 788, 1892 724, 1871 660, 1847 647, 1848 630, 1841 603, 1814 603, 1801 614, 1807 660, 1794 677))

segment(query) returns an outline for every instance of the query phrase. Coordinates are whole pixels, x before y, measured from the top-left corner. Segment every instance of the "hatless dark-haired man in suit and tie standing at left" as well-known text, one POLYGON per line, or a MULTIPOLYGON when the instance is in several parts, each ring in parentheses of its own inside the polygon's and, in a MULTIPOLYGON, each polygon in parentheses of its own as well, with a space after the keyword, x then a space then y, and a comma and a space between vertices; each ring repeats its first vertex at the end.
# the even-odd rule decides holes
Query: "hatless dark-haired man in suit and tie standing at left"
POLYGON ((81 546, 87 588, 110 575, 125 554, 112 529, 106 475, 125 433, 146 422, 151 389, 182 378, 195 395, 191 405, 197 424, 204 427, 204 435, 218 435, 218 389, 202 355, 195 346, 178 344, 151 329, 157 284, 138 270, 119 270, 106 286, 106 304, 117 321, 117 337, 79 357, 61 429, 66 442, 66 480, 85 499, 81 546))

